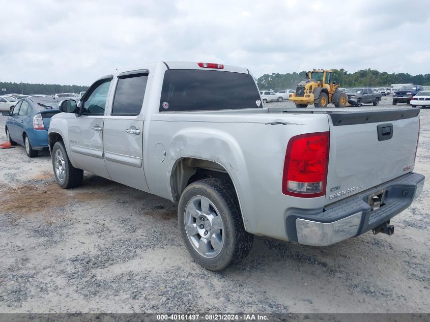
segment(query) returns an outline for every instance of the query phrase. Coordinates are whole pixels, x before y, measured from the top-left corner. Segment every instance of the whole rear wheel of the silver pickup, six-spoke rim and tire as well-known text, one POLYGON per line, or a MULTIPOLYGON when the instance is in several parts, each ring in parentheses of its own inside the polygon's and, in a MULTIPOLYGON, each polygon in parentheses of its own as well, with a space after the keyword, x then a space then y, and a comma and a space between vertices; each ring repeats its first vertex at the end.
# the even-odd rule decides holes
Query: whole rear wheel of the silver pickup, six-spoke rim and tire
POLYGON ((184 243, 198 264, 221 271, 245 258, 253 235, 245 231, 233 185, 212 178, 185 188, 178 205, 184 243))

